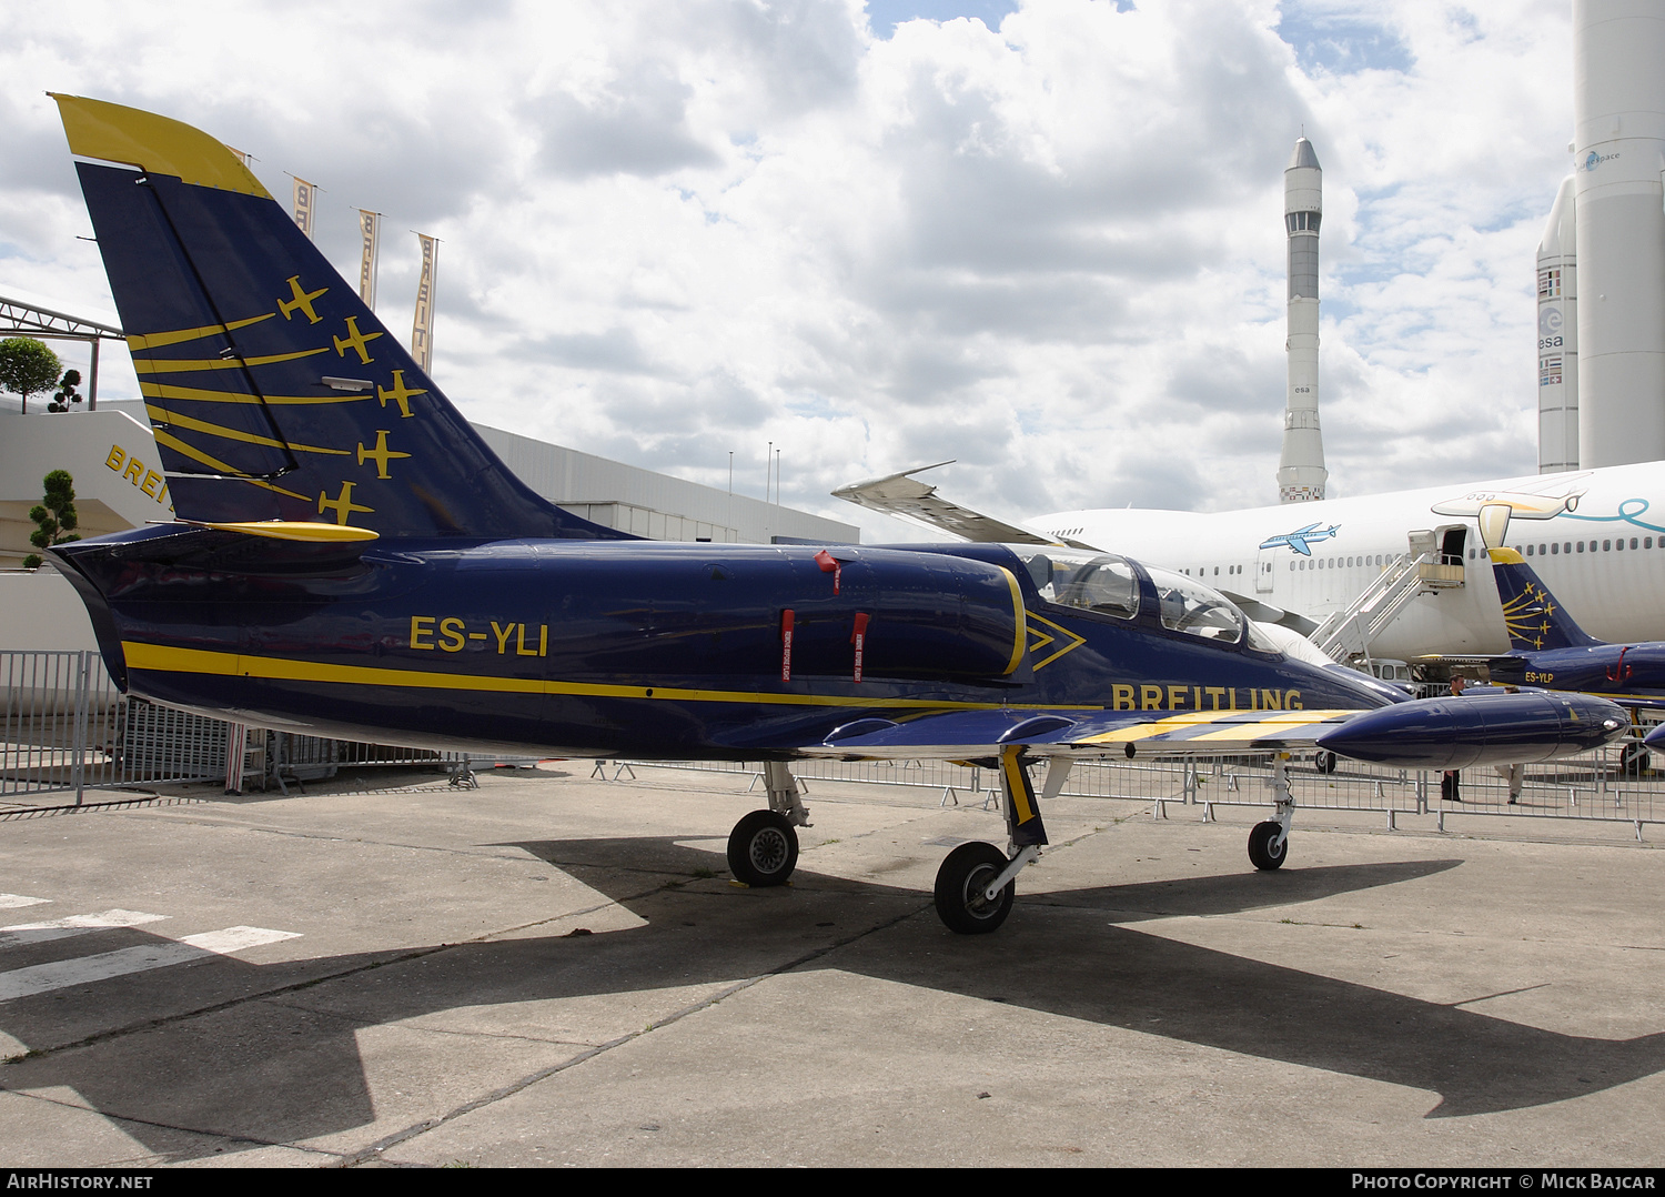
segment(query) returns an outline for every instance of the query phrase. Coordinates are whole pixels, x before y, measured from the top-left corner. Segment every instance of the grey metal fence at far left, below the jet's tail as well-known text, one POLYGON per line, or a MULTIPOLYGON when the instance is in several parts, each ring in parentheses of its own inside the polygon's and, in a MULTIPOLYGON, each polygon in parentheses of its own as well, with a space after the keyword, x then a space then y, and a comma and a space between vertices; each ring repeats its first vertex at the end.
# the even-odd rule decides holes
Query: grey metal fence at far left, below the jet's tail
POLYGON ((333 777, 343 767, 456 772, 536 759, 243 729, 122 694, 97 653, 0 651, 0 799, 73 791, 82 802, 88 789, 225 781, 238 749, 245 784, 285 792, 291 781, 333 777))

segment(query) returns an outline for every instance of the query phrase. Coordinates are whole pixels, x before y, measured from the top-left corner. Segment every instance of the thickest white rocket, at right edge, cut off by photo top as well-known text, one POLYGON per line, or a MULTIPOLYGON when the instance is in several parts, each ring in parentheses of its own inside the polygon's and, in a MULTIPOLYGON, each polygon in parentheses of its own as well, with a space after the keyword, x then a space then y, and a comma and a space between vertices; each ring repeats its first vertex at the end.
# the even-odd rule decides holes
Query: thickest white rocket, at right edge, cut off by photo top
POLYGON ((1575 245, 1560 248, 1577 250, 1590 469, 1665 458, 1665 0, 1573 0, 1572 15, 1575 245))

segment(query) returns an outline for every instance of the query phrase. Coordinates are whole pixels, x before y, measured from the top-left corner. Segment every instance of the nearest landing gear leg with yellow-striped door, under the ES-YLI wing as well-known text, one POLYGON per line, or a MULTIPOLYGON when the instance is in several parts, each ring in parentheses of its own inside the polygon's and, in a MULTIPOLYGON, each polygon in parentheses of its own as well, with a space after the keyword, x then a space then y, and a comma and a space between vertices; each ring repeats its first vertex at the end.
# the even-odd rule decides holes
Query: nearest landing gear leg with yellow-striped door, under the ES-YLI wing
MULTIPOLYGON (((961 936, 982 936, 1006 922, 1017 896, 1017 874, 1041 856, 1047 842, 1041 807, 1034 786, 1019 757, 1021 748, 1001 751, 1001 787, 1006 796, 1006 826, 1011 832, 1011 852, 994 844, 961 844, 937 869, 936 907, 949 931, 961 936)), ((1054 757, 1046 779, 1046 797, 1064 789, 1071 761, 1054 757)))

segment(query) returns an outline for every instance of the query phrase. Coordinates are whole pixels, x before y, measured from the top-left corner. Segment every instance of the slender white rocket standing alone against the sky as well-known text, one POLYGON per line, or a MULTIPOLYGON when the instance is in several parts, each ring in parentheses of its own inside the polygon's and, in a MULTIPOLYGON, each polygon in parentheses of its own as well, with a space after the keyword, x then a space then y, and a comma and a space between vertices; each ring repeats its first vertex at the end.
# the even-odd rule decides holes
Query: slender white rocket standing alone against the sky
POLYGON ((1312 142, 1295 142, 1284 171, 1284 231, 1289 236, 1289 393, 1284 401, 1284 456, 1277 464, 1282 503, 1324 498, 1319 430, 1319 223, 1324 216, 1324 168, 1312 142))

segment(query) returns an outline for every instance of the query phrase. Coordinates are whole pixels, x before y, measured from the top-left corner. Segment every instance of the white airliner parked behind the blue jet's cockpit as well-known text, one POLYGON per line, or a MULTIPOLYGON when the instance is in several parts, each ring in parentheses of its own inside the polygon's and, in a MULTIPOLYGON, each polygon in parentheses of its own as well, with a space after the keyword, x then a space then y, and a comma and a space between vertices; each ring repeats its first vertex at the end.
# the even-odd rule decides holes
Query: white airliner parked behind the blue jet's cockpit
POLYGON ((1205 578, 1254 618, 1304 633, 1367 589, 1380 589, 1395 563, 1400 571, 1417 569, 1404 606, 1369 643, 1374 659, 1505 653, 1487 546, 1520 551, 1593 636, 1665 639, 1660 461, 1244 511, 1059 511, 1022 526, 939 498, 934 486, 911 476, 917 473, 854 483, 834 494, 967 539, 1126 553, 1205 578))

